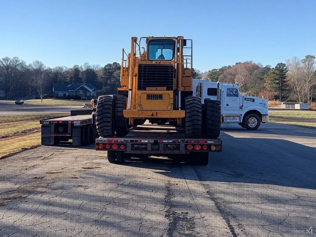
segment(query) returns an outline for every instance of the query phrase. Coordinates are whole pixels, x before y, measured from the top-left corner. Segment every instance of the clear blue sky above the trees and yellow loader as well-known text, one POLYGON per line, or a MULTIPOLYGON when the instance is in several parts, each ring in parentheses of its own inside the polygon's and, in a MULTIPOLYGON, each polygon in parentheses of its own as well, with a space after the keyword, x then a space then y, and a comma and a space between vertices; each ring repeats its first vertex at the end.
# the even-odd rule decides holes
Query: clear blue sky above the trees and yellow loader
POLYGON ((121 62, 131 36, 193 40, 193 67, 316 55, 316 1, 0 1, 0 58, 46 66, 121 62))

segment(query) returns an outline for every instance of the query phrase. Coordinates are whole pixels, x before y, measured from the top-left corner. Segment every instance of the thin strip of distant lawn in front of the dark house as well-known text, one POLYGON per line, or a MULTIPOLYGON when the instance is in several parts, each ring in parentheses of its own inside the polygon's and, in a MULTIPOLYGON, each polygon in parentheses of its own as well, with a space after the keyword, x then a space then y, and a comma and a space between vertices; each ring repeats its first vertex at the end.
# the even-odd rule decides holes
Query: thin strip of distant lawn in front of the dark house
MULTIPOLYGON (((14 103, 15 100, 0 100, 2 103, 14 103)), ((24 104, 30 104, 30 105, 80 105, 84 106, 85 103, 90 103, 91 100, 62 100, 62 99, 43 99, 43 103, 41 103, 41 100, 24 100, 24 104)))

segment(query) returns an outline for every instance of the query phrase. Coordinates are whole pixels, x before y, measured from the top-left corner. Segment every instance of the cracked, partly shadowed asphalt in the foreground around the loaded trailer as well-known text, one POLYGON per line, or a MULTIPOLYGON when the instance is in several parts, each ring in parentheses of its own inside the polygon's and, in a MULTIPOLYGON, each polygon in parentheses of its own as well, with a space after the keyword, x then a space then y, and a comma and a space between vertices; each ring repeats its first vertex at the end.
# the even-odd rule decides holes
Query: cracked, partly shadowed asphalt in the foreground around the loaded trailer
POLYGON ((0 160, 0 236, 315 236, 316 129, 223 125, 221 139, 205 167, 114 165, 93 145, 0 160))

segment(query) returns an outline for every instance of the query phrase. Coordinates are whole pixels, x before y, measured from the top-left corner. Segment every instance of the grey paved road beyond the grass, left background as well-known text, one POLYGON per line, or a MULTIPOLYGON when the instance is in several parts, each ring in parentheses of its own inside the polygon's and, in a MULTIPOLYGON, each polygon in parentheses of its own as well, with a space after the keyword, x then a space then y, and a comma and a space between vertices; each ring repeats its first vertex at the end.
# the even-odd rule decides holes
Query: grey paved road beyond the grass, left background
POLYGON ((53 105, 16 105, 0 102, 0 116, 22 115, 34 113, 69 113, 70 109, 82 108, 82 106, 53 106, 53 105))

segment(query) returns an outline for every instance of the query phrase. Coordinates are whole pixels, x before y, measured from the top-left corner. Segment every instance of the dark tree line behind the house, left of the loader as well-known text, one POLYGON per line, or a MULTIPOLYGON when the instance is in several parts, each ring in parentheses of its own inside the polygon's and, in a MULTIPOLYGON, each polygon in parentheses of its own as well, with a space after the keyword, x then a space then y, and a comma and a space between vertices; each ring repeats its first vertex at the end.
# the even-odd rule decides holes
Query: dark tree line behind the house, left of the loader
POLYGON ((91 83, 98 94, 114 94, 120 85, 120 71, 117 62, 103 67, 85 63, 50 68, 38 60, 26 64, 18 57, 4 57, 0 59, 0 91, 5 92, 5 99, 32 94, 43 98, 45 94, 52 96, 52 83, 91 83))

